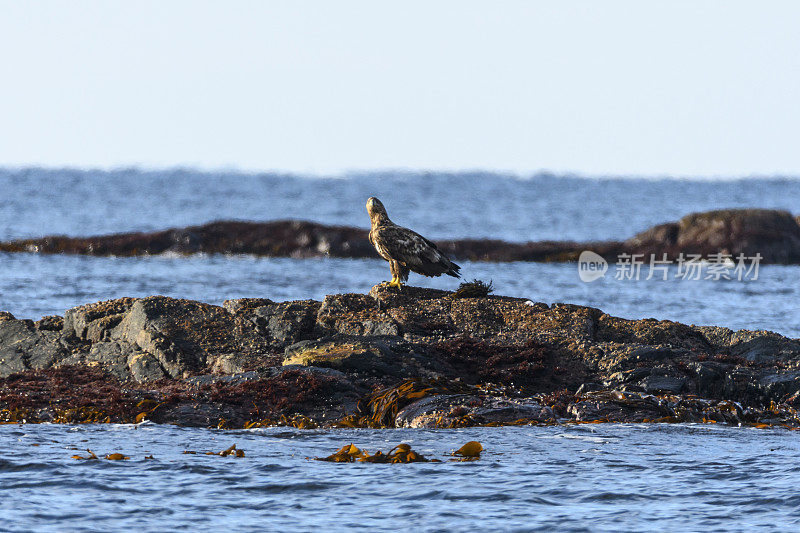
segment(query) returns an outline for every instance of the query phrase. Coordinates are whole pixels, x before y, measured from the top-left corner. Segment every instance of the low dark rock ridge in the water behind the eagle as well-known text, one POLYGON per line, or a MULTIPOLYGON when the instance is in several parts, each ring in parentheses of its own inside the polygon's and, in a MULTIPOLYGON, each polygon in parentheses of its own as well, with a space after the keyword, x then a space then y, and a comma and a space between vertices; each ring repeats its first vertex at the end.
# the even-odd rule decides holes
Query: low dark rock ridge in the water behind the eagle
MULTIPOLYGON (((456 259, 473 261, 576 261, 592 250, 609 261, 623 253, 761 254, 763 263, 800 263, 800 225, 785 211, 726 209, 695 213, 657 225, 625 241, 541 241, 511 243, 496 239, 441 240, 456 259)), ((378 257, 367 230, 314 222, 221 221, 154 233, 94 237, 49 236, 0 243, 0 251, 136 256, 152 254, 254 254, 270 257, 378 257)))

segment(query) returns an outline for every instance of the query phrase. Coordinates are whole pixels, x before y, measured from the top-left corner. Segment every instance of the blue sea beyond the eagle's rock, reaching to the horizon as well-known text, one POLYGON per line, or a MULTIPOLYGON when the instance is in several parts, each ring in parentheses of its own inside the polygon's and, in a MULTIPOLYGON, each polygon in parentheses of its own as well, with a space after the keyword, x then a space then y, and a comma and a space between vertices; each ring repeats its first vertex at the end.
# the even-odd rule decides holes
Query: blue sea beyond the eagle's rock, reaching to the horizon
MULTIPOLYGON (((380 197, 395 222, 433 238, 509 241, 624 239, 696 211, 763 207, 800 213, 800 179, 585 179, 536 175, 378 173, 320 178, 189 170, 0 170, 0 240, 152 231, 212 220, 306 219, 368 227, 380 197)), ((800 267, 761 266, 758 279, 664 281, 606 276, 584 283, 575 264, 470 263, 467 279, 496 294, 598 307, 625 318, 669 319, 800 337, 800 267)), ((0 310, 18 318, 122 296, 322 299, 389 278, 381 260, 248 256, 96 258, 0 254, 0 310)), ((452 278, 410 283, 455 288, 452 278)))

